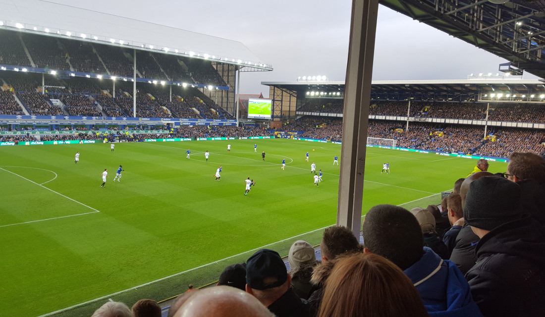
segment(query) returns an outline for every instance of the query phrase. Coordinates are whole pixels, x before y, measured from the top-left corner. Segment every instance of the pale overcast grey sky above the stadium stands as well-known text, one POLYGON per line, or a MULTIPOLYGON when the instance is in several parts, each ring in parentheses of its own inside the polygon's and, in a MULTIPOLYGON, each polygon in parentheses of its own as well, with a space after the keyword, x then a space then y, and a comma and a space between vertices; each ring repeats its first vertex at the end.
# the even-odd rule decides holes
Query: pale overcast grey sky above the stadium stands
MULTIPOLYGON (((261 82, 346 77, 351 1, 51 1, 240 41, 274 68, 243 73, 241 94, 268 97, 261 82)), ((462 80, 471 73, 495 74, 505 62, 379 5, 373 80, 462 80)))

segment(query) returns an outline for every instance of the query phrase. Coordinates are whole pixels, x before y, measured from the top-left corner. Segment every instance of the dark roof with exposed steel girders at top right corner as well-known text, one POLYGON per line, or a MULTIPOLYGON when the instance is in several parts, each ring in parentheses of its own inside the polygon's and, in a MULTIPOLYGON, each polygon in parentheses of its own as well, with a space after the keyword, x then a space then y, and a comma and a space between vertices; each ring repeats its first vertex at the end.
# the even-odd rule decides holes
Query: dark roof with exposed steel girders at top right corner
POLYGON ((525 70, 545 78, 543 0, 379 0, 379 3, 507 59, 510 63, 500 65, 501 71, 516 75, 525 70))

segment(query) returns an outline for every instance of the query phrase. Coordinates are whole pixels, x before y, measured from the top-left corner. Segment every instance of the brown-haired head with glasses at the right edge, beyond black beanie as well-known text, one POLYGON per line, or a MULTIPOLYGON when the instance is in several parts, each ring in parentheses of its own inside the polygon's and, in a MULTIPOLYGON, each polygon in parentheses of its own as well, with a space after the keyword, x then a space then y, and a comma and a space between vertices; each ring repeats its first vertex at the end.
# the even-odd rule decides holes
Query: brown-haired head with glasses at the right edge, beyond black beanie
POLYGON ((513 152, 507 164, 507 179, 514 182, 534 179, 545 184, 545 160, 532 152, 513 152))

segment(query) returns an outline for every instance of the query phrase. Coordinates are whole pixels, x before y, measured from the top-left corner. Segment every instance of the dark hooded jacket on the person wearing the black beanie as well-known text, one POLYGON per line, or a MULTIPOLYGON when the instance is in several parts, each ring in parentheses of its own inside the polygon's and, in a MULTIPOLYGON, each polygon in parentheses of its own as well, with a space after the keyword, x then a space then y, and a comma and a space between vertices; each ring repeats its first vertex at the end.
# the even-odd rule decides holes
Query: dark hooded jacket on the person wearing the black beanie
POLYGON ((545 316, 545 230, 529 215, 494 228, 477 243, 465 275, 486 317, 545 316))

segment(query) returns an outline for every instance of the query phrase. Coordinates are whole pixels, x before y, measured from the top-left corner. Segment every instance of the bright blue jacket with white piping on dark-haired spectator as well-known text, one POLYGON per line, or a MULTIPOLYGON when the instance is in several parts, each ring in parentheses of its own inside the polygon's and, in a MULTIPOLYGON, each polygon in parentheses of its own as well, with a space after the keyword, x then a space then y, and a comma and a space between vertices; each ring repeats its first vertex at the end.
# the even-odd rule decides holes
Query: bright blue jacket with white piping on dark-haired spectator
POLYGON ((432 249, 424 247, 422 258, 404 272, 416 286, 430 317, 482 317, 462 272, 432 249))

